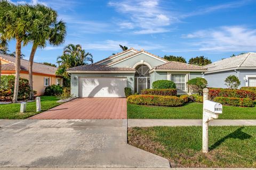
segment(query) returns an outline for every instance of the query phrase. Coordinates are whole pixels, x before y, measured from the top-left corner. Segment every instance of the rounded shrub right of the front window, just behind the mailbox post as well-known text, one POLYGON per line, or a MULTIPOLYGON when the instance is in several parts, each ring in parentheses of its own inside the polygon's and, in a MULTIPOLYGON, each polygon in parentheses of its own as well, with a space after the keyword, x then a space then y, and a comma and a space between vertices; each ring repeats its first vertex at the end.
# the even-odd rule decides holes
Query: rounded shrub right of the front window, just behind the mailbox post
POLYGON ((195 78, 188 80, 188 87, 190 89, 190 92, 192 93, 198 93, 202 95, 203 89, 206 88, 207 81, 204 78, 195 78))

